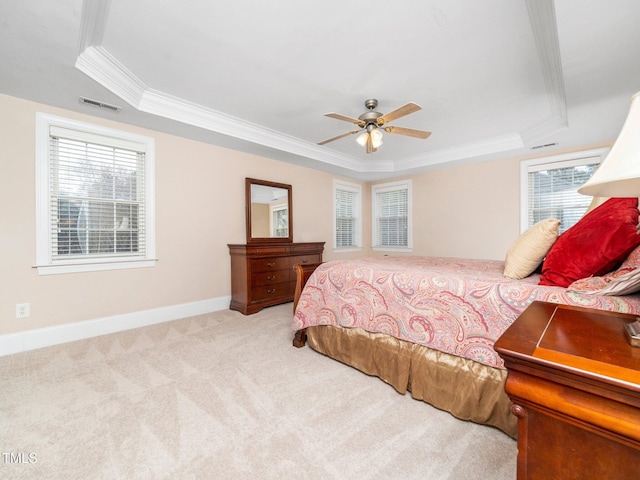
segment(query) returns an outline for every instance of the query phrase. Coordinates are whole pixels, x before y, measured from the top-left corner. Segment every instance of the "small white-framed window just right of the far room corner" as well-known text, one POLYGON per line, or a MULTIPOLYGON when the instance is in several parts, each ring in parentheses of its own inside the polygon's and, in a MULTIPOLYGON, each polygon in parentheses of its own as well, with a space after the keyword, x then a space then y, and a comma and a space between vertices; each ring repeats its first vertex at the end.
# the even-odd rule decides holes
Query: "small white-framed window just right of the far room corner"
POLYGON ((411 180, 372 187, 373 248, 411 250, 411 180))

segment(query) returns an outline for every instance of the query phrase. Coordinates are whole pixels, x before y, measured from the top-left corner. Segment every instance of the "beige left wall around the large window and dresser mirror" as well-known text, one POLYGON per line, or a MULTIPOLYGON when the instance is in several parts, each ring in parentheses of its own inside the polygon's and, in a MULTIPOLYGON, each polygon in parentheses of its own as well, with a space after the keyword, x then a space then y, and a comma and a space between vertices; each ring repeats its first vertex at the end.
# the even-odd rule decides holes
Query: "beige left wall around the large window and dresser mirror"
POLYGON ((325 241, 325 259, 333 256, 333 175, 4 95, 0 112, 0 335, 230 295, 227 244, 246 239, 245 177, 291 184, 294 241, 325 241), (38 111, 155 139, 155 267, 44 276, 32 268, 38 111), (27 302, 29 318, 16 319, 16 303, 27 302))

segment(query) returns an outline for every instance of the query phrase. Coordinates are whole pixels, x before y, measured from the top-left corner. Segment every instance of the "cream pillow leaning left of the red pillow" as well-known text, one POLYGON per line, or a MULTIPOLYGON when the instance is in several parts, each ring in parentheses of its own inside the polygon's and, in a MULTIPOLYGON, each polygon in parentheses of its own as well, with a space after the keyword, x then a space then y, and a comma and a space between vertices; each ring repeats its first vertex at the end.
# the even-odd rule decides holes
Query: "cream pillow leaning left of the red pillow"
POLYGON ((560 220, 547 218, 527 229, 507 251, 503 275, 515 279, 531 275, 557 240, 559 228, 560 220))

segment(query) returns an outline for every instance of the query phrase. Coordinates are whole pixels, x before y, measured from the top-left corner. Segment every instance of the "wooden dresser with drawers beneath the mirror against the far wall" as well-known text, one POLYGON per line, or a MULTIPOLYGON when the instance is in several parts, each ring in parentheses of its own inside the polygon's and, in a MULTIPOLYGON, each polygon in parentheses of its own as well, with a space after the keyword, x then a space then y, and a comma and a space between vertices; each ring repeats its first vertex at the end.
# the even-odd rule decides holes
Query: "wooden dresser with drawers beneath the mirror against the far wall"
POLYGON ((231 310, 245 315, 293 301, 296 264, 322 261, 324 242, 229 245, 231 310))

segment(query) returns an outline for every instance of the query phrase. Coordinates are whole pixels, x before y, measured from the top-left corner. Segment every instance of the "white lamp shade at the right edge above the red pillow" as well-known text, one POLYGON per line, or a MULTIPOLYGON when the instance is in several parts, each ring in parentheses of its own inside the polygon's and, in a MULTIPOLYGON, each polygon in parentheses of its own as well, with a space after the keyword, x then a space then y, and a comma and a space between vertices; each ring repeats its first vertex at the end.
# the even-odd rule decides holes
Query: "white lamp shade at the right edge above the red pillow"
POLYGON ((607 158, 578 192, 594 197, 640 197, 640 92, 631 97, 629 115, 607 158))

